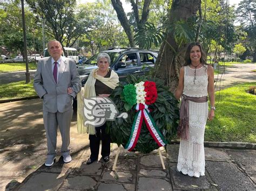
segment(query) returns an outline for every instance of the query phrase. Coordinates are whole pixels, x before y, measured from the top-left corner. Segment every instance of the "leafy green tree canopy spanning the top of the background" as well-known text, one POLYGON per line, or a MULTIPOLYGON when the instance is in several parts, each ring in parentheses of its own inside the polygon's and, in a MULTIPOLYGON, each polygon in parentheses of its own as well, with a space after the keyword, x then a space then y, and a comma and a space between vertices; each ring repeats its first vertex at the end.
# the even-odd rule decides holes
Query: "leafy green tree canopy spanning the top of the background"
MULTIPOLYGON (((185 2, 191 5, 191 1, 185 2)), ((126 3, 132 8, 130 12, 125 12, 120 0, 85 4, 77 4, 75 0, 26 0, 28 50, 33 52, 34 37, 35 49, 42 53, 44 36, 46 41, 54 38, 63 46, 73 46, 89 54, 110 47, 160 48, 172 34, 177 53, 186 43, 198 40, 216 60, 220 52, 231 53, 235 45, 242 44, 246 51, 239 54, 240 58, 252 56, 256 61, 253 0, 242 0, 237 9, 227 0, 200 1, 198 10, 187 13, 190 17, 185 20, 179 18, 183 17, 186 4, 179 12, 177 1, 129 0, 126 3)), ((23 54, 21 24, 19 1, 0 2, 0 44, 8 49, 6 54, 23 54)))

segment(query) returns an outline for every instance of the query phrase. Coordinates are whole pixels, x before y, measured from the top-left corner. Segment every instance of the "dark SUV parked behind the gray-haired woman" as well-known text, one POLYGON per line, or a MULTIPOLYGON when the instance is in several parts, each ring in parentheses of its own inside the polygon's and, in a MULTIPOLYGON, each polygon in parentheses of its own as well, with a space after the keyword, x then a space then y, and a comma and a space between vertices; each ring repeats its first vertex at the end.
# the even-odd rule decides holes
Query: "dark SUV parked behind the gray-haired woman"
MULTIPOLYGON (((119 76, 119 80, 125 79, 127 74, 145 74, 154 67, 157 58, 157 51, 150 51, 140 48, 111 48, 102 51, 109 54, 110 68, 119 76)), ((93 55, 83 65, 79 65, 77 70, 84 86, 87 77, 92 69, 97 68, 97 56, 93 55)))

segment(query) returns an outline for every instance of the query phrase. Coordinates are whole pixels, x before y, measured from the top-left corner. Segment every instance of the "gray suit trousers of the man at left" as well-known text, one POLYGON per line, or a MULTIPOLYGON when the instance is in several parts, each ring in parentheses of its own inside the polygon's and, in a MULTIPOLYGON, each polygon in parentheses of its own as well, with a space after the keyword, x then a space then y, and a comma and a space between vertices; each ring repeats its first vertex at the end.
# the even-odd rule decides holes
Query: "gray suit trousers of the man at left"
POLYGON ((56 156, 57 144, 57 128, 59 126, 60 135, 62 136, 62 155, 70 153, 70 123, 73 115, 73 109, 63 113, 57 111, 55 113, 43 110, 44 128, 47 138, 48 157, 56 156))

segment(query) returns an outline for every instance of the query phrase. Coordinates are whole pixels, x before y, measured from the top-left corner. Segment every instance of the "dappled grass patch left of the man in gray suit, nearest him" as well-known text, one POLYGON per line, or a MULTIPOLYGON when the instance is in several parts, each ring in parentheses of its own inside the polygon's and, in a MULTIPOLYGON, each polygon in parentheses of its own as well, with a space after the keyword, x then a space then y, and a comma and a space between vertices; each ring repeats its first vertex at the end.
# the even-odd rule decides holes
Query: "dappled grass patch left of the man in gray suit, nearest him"
POLYGON ((26 84, 25 81, 20 81, 0 85, 0 100, 29 97, 35 95, 37 94, 33 88, 33 81, 28 84, 26 84))

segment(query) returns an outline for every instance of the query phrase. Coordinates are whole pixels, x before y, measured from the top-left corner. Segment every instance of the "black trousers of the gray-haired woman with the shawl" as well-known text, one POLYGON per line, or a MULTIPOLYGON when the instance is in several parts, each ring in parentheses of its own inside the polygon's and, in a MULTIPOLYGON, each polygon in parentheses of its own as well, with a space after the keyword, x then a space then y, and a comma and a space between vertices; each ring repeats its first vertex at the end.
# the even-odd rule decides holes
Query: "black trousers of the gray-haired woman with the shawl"
POLYGON ((96 135, 89 135, 90 140, 90 150, 91 150, 91 160, 97 160, 99 155, 99 144, 102 140, 102 157, 107 157, 110 155, 110 135, 105 132, 106 123, 102 126, 95 128, 96 135))

